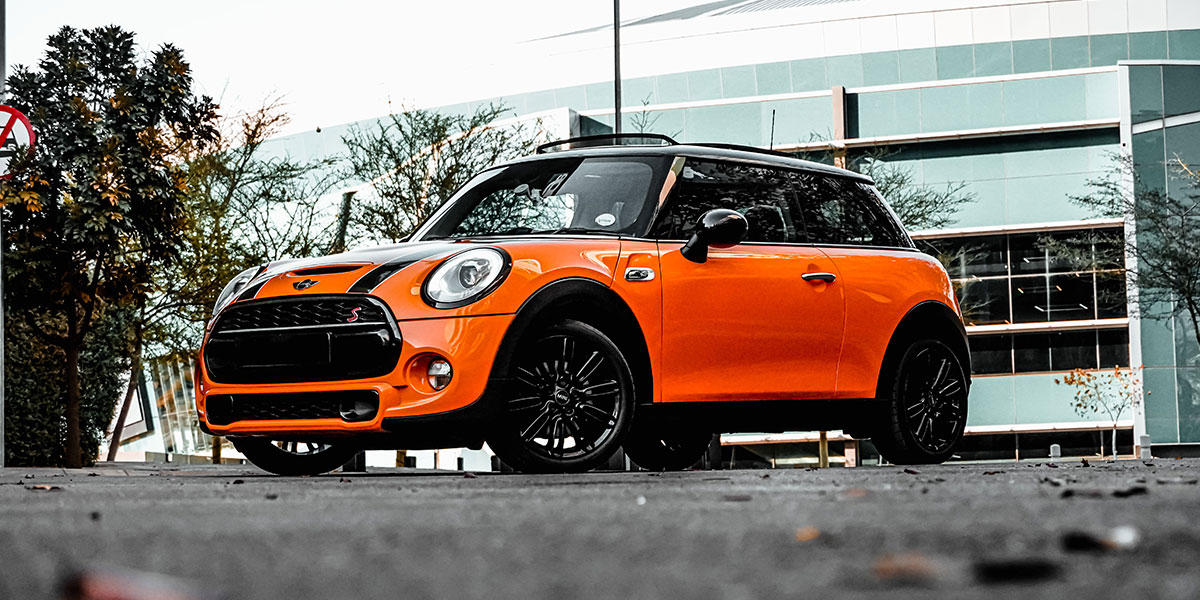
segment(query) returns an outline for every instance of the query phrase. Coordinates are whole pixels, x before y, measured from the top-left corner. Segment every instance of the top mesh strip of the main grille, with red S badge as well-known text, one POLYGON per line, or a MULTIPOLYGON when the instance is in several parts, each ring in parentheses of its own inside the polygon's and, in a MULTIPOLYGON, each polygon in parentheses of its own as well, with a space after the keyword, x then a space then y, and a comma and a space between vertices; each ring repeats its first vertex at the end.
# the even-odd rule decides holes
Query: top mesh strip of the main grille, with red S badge
POLYGON ((265 299, 234 304, 221 313, 212 332, 386 322, 386 310, 365 296, 265 299))

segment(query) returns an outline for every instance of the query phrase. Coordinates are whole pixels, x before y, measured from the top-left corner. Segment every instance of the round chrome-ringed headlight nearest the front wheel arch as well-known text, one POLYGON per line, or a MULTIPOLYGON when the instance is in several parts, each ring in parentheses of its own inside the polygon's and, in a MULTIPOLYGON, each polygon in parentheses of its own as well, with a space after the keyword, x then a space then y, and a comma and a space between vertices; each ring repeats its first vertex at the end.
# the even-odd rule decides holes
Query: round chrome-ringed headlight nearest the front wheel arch
POLYGON ((509 274, 509 256, 499 248, 460 252, 438 265, 421 289, 434 308, 457 308, 484 298, 509 274))

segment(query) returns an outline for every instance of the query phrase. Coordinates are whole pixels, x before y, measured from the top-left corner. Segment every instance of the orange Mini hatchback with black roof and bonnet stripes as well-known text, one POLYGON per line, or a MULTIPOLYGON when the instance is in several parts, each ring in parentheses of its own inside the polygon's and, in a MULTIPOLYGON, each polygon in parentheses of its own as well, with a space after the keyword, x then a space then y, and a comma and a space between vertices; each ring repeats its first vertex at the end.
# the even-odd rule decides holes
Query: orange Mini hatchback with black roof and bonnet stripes
POLYGON ((937 463, 967 419, 942 265, 869 178, 754 148, 545 144, 408 241, 247 269, 214 313, 200 426, 284 475, 485 443, 522 472, 683 469, 718 433, 818 430, 937 463))

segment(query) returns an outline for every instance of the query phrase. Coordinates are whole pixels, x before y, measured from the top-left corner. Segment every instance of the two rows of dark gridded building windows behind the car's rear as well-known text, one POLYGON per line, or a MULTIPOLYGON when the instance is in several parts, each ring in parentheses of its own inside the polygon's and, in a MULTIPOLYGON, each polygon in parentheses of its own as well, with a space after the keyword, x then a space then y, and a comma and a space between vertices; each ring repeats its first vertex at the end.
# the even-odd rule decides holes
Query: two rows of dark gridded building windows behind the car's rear
MULTIPOLYGON (((946 265, 962 308, 974 374, 1129 366, 1126 326, 972 332, 978 325, 1091 322, 1127 316, 1120 227, 919 240, 946 265)), ((980 328, 986 329, 986 328, 980 328)))

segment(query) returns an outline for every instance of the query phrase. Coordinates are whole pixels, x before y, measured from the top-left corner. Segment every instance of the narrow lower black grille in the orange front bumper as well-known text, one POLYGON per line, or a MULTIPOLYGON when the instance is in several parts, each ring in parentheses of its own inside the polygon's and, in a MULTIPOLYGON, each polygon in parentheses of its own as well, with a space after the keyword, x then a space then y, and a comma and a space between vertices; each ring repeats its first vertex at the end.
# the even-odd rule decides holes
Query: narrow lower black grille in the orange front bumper
POLYGON ((370 421, 379 412, 374 390, 301 394, 215 394, 205 401, 212 425, 280 419, 341 419, 370 421))

